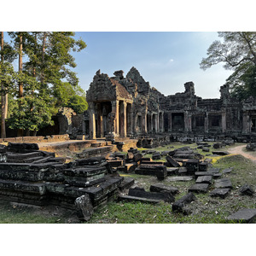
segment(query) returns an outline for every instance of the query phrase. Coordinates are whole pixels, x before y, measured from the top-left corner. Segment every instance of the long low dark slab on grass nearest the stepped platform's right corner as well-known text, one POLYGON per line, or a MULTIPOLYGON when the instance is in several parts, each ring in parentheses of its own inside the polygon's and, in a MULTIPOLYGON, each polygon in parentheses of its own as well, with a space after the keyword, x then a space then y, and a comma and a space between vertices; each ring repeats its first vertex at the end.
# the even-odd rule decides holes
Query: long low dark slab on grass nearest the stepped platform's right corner
POLYGON ((129 189, 128 195, 154 200, 161 200, 170 203, 175 201, 173 195, 170 192, 148 192, 145 191, 145 189, 138 187, 134 189, 129 189))

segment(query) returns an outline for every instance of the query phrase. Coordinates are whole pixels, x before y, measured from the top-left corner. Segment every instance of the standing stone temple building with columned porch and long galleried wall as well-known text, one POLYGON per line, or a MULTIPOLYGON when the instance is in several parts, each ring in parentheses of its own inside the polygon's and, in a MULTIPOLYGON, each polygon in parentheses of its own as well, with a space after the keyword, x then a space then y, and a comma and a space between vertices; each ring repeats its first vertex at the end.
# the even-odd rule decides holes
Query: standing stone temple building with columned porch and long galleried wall
POLYGON ((184 84, 184 92, 164 96, 135 67, 126 77, 121 70, 113 74, 97 71, 87 90, 85 130, 92 139, 170 134, 250 140, 256 135, 256 99, 240 102, 228 85, 220 87, 219 99, 196 96, 193 82, 184 84))

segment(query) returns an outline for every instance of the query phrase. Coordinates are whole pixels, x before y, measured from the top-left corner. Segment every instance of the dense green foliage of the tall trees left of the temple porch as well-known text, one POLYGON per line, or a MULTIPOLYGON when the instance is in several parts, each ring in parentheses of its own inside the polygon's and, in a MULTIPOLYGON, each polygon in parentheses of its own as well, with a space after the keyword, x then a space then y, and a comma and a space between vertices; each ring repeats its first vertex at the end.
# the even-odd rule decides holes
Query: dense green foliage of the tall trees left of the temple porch
POLYGON ((79 86, 73 51, 86 47, 74 32, 8 32, 4 44, 0 77, 11 94, 9 127, 38 131, 51 125, 51 115, 61 107, 82 113, 88 108, 84 90, 79 86), (13 61, 19 58, 19 71, 13 61), (78 106, 79 105, 79 106, 78 106))

